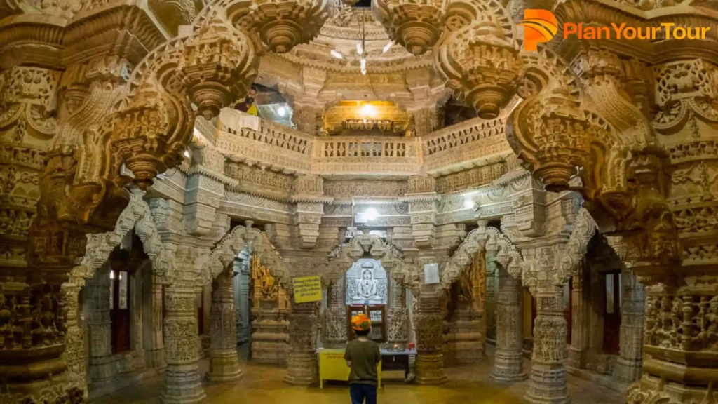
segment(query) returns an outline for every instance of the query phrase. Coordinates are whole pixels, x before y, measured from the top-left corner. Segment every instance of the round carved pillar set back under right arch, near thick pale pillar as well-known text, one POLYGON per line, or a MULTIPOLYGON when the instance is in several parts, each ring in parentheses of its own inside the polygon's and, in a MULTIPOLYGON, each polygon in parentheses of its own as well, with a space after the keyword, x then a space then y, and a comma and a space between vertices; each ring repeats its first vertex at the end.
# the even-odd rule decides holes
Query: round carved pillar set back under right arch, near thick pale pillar
POLYGON ((523 372, 523 316, 521 316, 521 281, 498 268, 498 303, 496 305, 496 354, 493 374, 501 382, 526 380, 523 372))

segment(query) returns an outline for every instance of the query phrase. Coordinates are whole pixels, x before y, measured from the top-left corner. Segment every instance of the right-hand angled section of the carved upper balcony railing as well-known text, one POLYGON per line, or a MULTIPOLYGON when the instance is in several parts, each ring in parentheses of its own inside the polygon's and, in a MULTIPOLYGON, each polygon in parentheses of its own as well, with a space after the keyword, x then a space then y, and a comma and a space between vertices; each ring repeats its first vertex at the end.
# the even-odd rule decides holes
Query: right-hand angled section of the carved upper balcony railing
POLYGON ((443 175, 511 155, 505 118, 470 119, 421 137, 424 170, 443 175))

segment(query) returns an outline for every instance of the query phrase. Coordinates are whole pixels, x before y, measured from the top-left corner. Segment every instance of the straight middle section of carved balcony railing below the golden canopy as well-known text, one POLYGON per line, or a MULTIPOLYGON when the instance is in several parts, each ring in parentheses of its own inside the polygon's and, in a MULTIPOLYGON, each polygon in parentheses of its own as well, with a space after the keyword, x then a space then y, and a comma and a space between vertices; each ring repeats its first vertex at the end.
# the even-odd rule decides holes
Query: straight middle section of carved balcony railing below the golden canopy
POLYGON ((312 171, 414 175, 421 170, 420 147, 411 137, 317 137, 312 171))

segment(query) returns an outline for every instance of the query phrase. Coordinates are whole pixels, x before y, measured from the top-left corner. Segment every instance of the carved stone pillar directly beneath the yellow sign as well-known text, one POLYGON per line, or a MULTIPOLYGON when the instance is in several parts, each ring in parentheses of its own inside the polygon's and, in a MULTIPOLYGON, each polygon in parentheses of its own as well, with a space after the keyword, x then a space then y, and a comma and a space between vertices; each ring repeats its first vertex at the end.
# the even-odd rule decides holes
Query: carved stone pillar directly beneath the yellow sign
POLYGON ((289 315, 289 352, 284 382, 313 385, 319 381, 317 368, 317 304, 293 303, 289 315))

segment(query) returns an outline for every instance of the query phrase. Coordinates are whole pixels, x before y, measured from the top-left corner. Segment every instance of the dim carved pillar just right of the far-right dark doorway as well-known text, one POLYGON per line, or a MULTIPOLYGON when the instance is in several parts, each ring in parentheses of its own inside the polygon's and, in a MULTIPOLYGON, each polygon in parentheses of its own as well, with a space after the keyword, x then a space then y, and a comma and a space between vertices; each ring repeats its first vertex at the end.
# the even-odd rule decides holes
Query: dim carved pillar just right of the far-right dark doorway
POLYGON ((621 271, 623 303, 621 303, 620 357, 616 360, 614 375, 623 382, 640 379, 643 357, 643 285, 633 271, 621 271))

